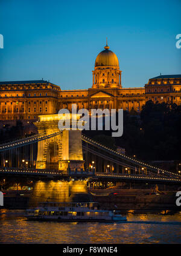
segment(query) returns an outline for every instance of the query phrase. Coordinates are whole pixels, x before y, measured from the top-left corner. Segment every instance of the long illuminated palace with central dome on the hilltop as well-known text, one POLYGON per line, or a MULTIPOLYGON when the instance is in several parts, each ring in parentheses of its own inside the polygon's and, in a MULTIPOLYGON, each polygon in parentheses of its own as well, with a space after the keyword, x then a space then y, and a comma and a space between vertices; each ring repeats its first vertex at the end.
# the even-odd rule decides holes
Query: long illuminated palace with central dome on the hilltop
POLYGON ((147 100, 181 104, 181 75, 157 76, 145 87, 122 88, 118 57, 106 45, 95 60, 92 88, 61 90, 45 80, 0 82, 0 120, 33 120, 61 108, 123 108, 141 111, 147 100))

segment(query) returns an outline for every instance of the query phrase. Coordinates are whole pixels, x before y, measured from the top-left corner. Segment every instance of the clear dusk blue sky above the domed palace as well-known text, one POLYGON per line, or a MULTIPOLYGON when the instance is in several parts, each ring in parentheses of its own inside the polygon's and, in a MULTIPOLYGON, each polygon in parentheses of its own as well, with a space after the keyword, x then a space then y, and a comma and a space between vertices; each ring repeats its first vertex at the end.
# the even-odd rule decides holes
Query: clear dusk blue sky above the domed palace
POLYGON ((180 0, 0 0, 0 80, 43 77, 63 90, 90 88, 106 37, 119 59, 122 87, 180 74, 180 10, 180 0))

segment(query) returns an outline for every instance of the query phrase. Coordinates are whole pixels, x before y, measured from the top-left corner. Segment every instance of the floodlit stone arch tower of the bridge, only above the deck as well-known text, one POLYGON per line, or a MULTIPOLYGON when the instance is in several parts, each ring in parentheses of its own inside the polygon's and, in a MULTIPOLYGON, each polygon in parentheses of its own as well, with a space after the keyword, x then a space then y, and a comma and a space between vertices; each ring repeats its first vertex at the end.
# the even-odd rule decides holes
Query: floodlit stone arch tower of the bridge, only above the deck
MULTIPOLYGON (((69 114, 72 120, 72 114, 69 114)), ((77 122, 76 117, 75 122, 77 122)), ((34 123, 39 134, 49 135, 59 133, 50 139, 38 142, 37 169, 58 169, 64 173, 69 168, 78 172, 84 170, 84 160, 81 143, 81 131, 71 128, 60 133, 58 122, 59 114, 39 116, 39 121, 34 123)), ((74 120, 74 118, 73 118, 74 120)), ((70 122, 72 127, 72 122, 70 122)))

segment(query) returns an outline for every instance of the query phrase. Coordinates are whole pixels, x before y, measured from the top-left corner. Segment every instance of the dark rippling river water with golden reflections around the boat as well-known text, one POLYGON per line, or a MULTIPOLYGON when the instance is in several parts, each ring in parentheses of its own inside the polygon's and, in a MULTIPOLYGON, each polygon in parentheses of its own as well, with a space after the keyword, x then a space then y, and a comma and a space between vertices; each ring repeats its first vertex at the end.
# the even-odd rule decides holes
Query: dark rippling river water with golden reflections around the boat
POLYGON ((127 213, 125 223, 27 222, 24 211, 0 210, 0 243, 181 243, 181 212, 127 213))

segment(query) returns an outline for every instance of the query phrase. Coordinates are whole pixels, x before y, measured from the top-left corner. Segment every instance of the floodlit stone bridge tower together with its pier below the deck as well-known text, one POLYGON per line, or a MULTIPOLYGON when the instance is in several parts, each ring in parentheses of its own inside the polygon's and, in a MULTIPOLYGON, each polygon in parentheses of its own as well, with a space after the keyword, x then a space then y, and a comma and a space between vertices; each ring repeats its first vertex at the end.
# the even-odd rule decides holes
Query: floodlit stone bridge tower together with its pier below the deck
MULTIPOLYGON (((72 120, 72 114, 69 114, 72 120)), ((74 118, 73 118, 74 119, 74 118)), ((78 119, 78 117, 77 117, 78 119)), ((77 123, 77 119, 74 122, 77 123)), ((51 139, 38 142, 37 169, 57 169, 61 174, 59 180, 37 180, 34 183, 30 206, 38 202, 77 202, 87 201, 87 179, 72 174, 83 174, 84 160, 82 152, 81 131, 72 128, 60 132, 59 114, 39 116, 34 123, 39 134, 58 133, 51 139)))

